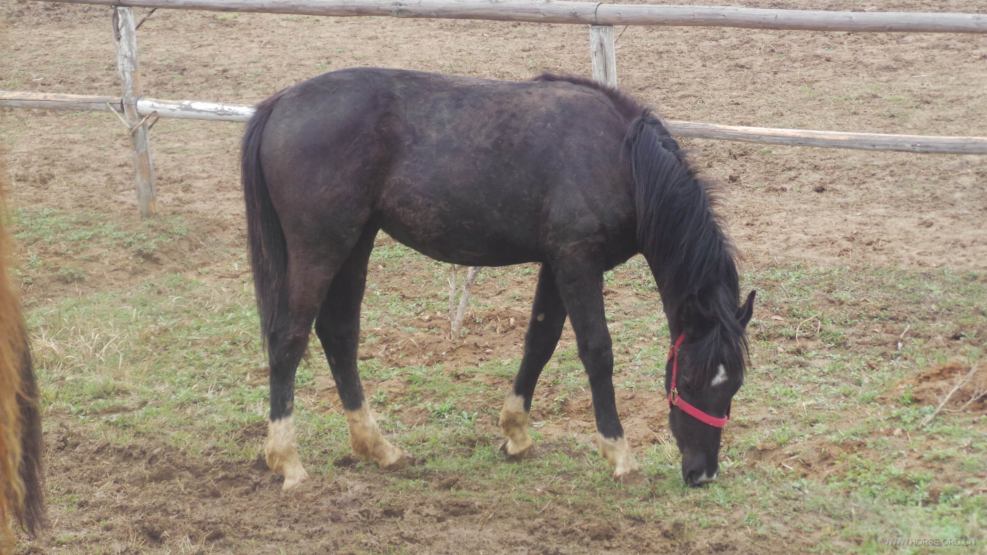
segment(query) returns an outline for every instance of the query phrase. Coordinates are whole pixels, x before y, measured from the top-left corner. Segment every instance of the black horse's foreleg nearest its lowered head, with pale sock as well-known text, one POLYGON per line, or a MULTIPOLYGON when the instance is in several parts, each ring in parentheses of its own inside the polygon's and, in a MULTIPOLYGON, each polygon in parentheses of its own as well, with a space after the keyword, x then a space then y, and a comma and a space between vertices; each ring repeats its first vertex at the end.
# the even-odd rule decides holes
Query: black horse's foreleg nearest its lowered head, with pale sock
POLYGON ((569 265, 558 271, 559 289, 575 331, 579 359, 586 369, 596 413, 596 445, 614 468, 614 479, 628 485, 647 482, 641 465, 628 448, 617 414, 614 393, 614 355, 603 304, 600 269, 569 265))

